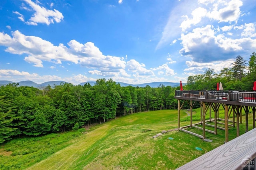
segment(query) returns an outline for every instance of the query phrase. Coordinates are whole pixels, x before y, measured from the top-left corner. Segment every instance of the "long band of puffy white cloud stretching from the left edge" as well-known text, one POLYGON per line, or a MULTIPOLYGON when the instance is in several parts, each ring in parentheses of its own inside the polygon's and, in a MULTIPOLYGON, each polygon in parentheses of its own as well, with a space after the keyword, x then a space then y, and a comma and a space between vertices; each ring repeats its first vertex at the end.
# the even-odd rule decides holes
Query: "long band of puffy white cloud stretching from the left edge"
MULTIPOLYGON (((26 54, 27 56, 24 60, 28 63, 33 63, 36 67, 43 67, 43 61, 55 64, 68 61, 98 71, 91 71, 91 74, 110 76, 121 73, 123 76, 129 76, 124 71, 126 62, 123 57, 103 55, 100 49, 92 42, 83 45, 71 40, 68 42, 69 47, 63 44, 55 46, 40 37, 26 36, 19 31, 14 31, 12 32, 12 37, 8 34, 0 33, 0 45, 7 47, 5 49, 6 52, 18 55, 26 54)), ((146 70, 143 67, 145 66, 143 65, 138 70, 140 74, 152 74, 150 70, 146 70)))

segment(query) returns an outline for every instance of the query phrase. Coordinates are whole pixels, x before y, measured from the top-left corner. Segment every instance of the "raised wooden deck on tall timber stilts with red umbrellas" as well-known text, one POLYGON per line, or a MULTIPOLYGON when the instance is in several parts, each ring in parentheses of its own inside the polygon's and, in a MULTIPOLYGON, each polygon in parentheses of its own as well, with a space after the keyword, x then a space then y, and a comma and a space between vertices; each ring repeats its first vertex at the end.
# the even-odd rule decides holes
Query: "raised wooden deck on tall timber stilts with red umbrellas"
MULTIPOLYGON (((248 114, 250 109, 253 113, 253 119, 255 120, 255 112, 256 112, 256 92, 240 92, 240 91, 216 91, 216 90, 175 90, 175 97, 178 100, 178 130, 184 131, 186 133, 190 133, 202 139, 206 138, 205 132, 214 133, 217 135, 217 129, 222 129, 225 131, 225 142, 228 142, 228 126, 230 120, 230 115, 232 114, 233 120, 232 125, 237 127, 237 137, 239 134, 239 124, 242 123, 242 110, 245 112, 246 119, 246 132, 248 132, 248 114), (181 101, 183 103, 181 104, 181 101), (199 123, 192 123, 192 109, 193 109, 193 101, 194 103, 198 101, 201 107, 201 120, 199 123), (190 105, 190 125, 186 125, 180 127, 180 110, 182 109, 184 103, 187 102, 190 105), (218 117, 218 110, 222 106, 225 111, 224 123, 220 122, 218 117), (210 112, 210 120, 206 120, 206 113, 209 109, 210 112), (212 110, 214 111, 214 119, 212 119, 212 110), (235 121, 236 117, 236 121, 235 121), (207 122, 214 121, 214 125, 210 125, 207 122), (219 127, 217 124, 223 124, 223 127, 219 127), (202 125, 202 127, 198 127, 196 125, 202 125), (214 131, 210 131, 206 129, 206 126, 214 127, 214 131), (198 129, 202 129, 202 135, 192 133, 188 131, 186 128, 188 127, 196 127, 198 129)), ((255 128, 255 121, 253 121, 253 128, 255 128)))

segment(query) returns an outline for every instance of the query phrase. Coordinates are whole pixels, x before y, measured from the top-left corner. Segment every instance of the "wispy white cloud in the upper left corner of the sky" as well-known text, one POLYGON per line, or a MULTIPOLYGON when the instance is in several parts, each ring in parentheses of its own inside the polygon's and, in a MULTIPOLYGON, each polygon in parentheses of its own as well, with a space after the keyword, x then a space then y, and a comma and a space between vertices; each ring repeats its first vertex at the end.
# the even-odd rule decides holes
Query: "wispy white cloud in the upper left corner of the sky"
MULTIPOLYGON (((31 16, 31 18, 28 21, 25 21, 22 14, 20 14, 19 12, 14 12, 14 13, 20 15, 20 17, 18 18, 21 21, 24 21, 28 25, 37 25, 38 23, 44 23, 44 24, 50 25, 50 23, 54 23, 54 22, 58 23, 64 18, 62 13, 59 12, 58 10, 55 10, 55 9, 48 10, 43 6, 40 6, 38 1, 36 1, 37 3, 32 2, 32 0, 23 0, 23 1, 26 2, 30 6, 30 8, 27 8, 26 6, 23 5, 22 9, 29 10, 29 11, 32 10, 34 11, 34 14, 31 16)), ((53 3, 50 4, 50 7, 52 6, 53 6, 53 3)))

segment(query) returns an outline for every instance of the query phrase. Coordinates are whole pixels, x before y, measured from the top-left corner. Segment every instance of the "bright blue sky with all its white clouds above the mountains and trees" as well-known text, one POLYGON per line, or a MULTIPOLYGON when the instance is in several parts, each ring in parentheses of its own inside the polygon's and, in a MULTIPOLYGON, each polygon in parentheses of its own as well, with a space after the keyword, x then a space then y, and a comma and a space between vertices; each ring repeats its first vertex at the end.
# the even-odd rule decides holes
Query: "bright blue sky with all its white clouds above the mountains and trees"
POLYGON ((1 0, 0 80, 186 82, 256 52, 256 0, 1 0))

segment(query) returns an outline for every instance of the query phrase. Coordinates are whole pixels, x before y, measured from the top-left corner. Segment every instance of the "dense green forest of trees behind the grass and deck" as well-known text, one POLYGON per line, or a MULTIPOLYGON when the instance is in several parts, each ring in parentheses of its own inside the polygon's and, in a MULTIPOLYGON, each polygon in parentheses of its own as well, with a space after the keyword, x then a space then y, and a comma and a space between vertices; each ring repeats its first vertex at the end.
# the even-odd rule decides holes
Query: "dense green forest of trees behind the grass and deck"
MULTIPOLYGON (((252 91, 256 80, 256 53, 247 62, 237 56, 231 68, 219 74, 208 68, 203 74, 189 76, 184 90, 215 90, 222 82, 224 90, 252 91)), ((120 86, 112 79, 98 79, 94 86, 62 83, 53 88, 19 86, 0 87, 0 143, 14 137, 38 136, 77 130, 92 123, 103 123, 116 116, 134 112, 176 109, 175 90, 120 86)), ((186 106, 184 106, 186 107, 186 106)))

